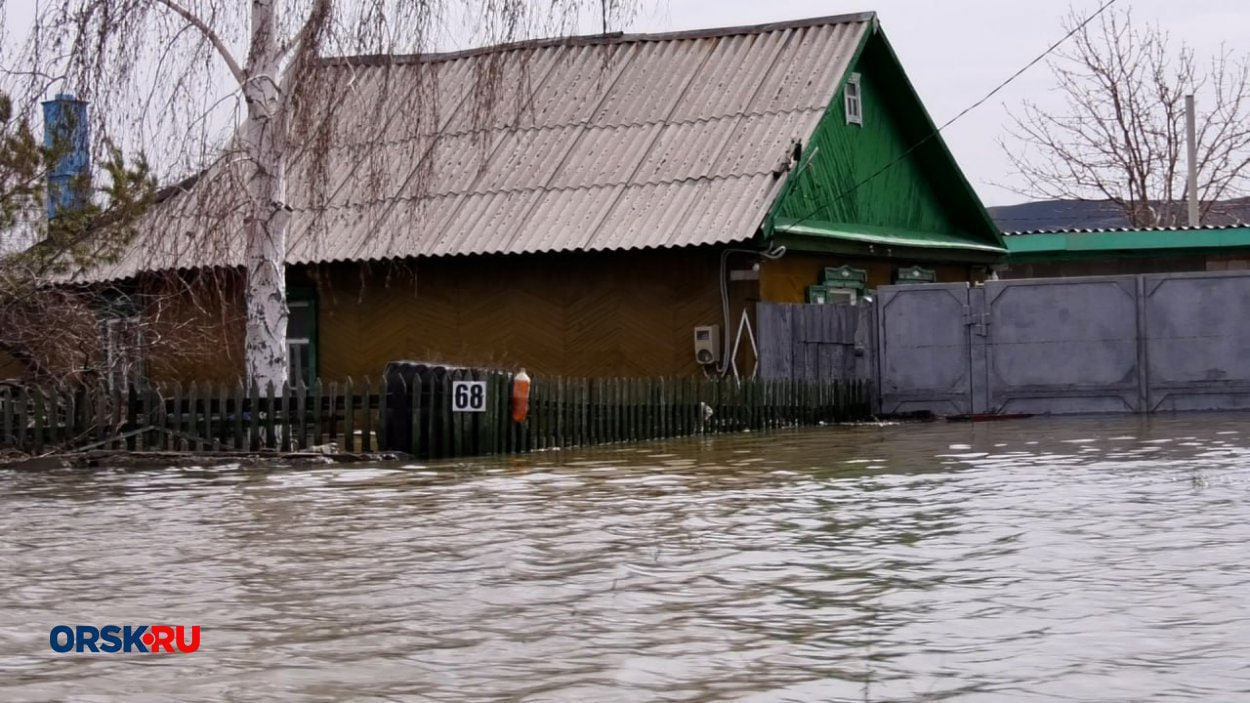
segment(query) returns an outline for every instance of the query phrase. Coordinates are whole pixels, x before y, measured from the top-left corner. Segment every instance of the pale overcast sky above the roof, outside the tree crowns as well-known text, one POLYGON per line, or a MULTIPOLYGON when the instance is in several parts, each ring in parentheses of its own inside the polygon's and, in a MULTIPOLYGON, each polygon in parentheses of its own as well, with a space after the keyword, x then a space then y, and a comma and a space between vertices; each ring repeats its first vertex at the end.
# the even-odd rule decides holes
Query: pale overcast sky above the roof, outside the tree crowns
MULTIPOLYGON (((939 125, 971 105, 1062 36, 1069 8, 1091 14, 1102 0, 639 0, 625 31, 672 31, 759 24, 874 10, 939 125)), ((34 0, 10 3, 10 39, 22 39, 34 0), (25 20, 25 21, 24 21, 25 20), (12 36, 16 35, 16 36, 12 36)), ((1220 43, 1250 50, 1248 0, 1119 0, 1139 21, 1156 21, 1201 51, 1220 43)), ((598 31, 598 26, 586 26, 598 31)), ((1039 64, 944 136, 986 205, 1025 200, 1004 185, 1018 183, 998 140, 1008 108, 1025 98, 1054 104, 1049 70, 1039 64)), ((1201 110, 1201 104, 1199 105, 1201 110)))

